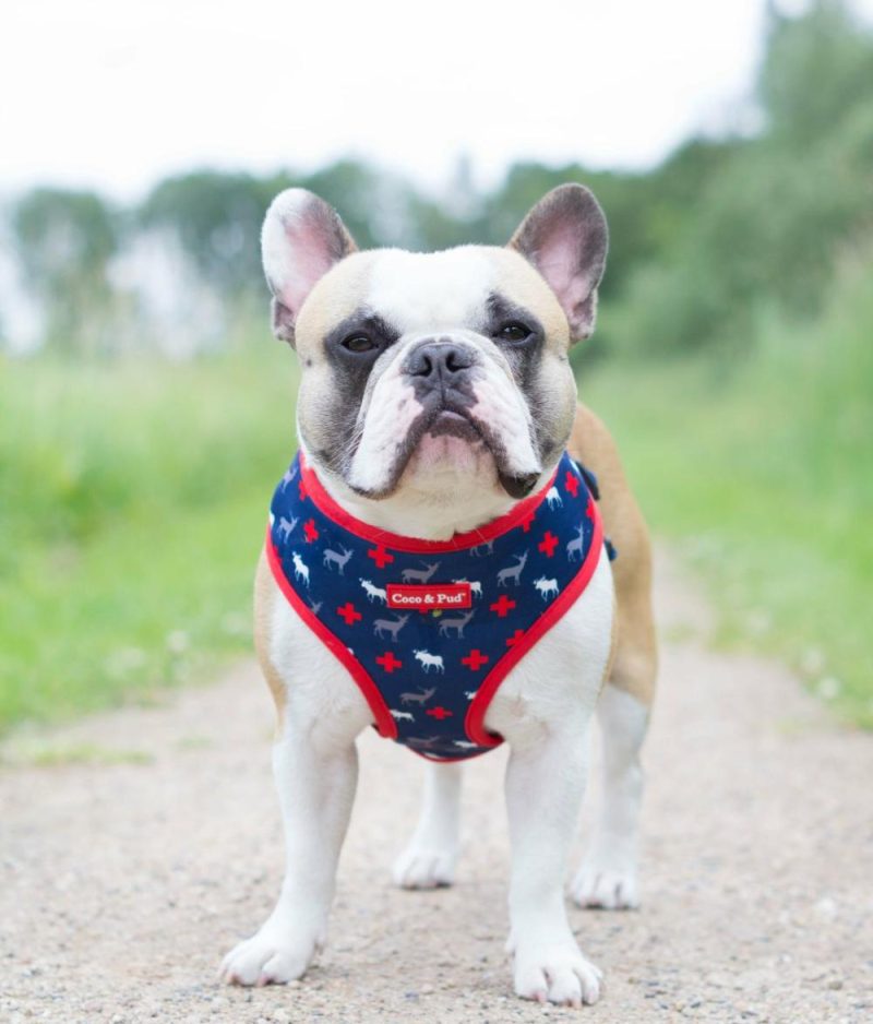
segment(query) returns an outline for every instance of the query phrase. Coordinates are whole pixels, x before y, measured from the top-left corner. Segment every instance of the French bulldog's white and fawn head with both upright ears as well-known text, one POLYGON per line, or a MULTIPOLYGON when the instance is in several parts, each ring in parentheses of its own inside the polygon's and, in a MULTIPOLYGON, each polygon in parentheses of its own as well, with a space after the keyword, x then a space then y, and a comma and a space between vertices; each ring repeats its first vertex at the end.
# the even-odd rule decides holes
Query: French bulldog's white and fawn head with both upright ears
POLYGON ((573 422, 567 350, 593 329, 607 225, 578 184, 549 192, 504 249, 358 252, 338 215, 289 189, 264 221, 273 330, 298 352, 310 461, 358 496, 517 499, 573 422))

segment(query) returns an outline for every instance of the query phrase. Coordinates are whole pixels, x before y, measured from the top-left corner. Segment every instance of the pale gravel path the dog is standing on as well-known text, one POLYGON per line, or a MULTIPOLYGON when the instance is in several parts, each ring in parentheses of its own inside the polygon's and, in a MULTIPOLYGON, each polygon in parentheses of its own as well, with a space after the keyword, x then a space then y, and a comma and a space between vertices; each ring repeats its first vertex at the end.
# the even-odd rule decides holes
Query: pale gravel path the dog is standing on
POLYGON ((421 765, 371 735, 320 964, 285 988, 219 987, 282 860, 272 704, 247 664, 165 706, 5 745, 0 1021, 873 1020, 873 738, 828 723, 778 665, 709 652, 698 595, 659 569, 644 907, 571 912, 606 972, 597 1007, 512 995, 504 752, 468 770, 456 886, 407 893, 388 867, 421 765), (35 765, 34 745, 68 763, 35 765))

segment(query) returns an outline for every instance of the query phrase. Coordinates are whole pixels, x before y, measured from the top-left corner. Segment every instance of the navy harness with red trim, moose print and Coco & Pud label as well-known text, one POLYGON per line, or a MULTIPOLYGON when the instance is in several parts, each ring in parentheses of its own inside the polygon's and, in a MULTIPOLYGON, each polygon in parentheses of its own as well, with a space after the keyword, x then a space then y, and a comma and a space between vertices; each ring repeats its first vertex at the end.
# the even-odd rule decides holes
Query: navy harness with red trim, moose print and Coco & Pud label
POLYGON ((594 573, 595 486, 564 453, 550 483, 506 515, 420 540, 349 515, 298 454, 273 496, 267 557, 382 736, 432 760, 471 758, 502 742, 483 725, 498 687, 594 573))

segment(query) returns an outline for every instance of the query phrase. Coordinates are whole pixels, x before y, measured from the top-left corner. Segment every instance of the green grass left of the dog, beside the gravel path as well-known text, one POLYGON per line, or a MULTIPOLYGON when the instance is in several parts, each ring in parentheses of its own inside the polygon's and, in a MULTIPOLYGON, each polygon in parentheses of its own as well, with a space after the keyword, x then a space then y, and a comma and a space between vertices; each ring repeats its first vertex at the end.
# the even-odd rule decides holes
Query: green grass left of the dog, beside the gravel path
POLYGON ((0 730, 203 679, 251 650, 294 362, 0 366, 0 730))

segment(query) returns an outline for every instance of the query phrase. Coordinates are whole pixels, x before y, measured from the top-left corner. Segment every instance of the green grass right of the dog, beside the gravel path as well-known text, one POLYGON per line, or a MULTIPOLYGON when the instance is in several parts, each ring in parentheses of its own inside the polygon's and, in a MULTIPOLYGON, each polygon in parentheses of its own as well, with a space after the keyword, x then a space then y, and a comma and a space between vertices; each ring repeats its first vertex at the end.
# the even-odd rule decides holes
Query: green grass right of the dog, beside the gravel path
POLYGON ((873 728, 873 262, 821 321, 770 318, 740 366, 609 367, 586 400, 647 517, 721 611, 721 639, 785 658, 873 728))

